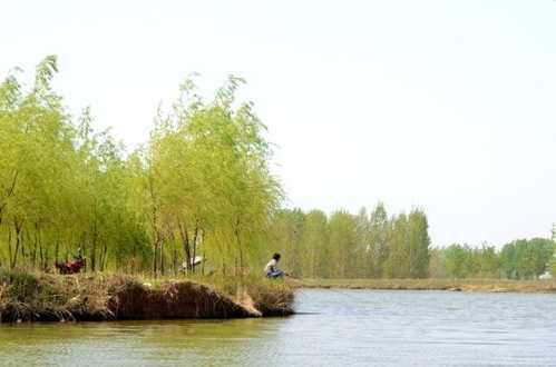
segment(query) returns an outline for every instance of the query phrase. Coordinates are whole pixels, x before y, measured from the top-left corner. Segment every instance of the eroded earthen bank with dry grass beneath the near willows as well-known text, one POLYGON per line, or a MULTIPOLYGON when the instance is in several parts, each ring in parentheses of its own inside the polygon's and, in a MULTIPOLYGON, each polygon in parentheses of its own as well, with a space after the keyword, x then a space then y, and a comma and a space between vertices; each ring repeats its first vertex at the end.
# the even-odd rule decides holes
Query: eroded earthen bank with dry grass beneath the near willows
POLYGON ((246 318, 293 314, 284 282, 0 271, 0 321, 246 318))

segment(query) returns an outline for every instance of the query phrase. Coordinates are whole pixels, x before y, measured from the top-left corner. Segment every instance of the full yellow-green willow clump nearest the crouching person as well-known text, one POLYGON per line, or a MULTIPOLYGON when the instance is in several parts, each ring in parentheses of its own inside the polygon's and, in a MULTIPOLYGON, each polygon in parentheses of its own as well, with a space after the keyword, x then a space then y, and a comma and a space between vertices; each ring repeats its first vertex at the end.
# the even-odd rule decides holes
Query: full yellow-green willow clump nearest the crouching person
POLYGON ((230 78, 205 102, 187 80, 172 110, 158 113, 142 159, 155 271, 165 271, 168 247, 172 264, 181 255, 189 267, 202 242, 213 258, 243 268, 277 207, 281 189, 267 167, 264 126, 251 103, 234 107, 241 82, 230 78))

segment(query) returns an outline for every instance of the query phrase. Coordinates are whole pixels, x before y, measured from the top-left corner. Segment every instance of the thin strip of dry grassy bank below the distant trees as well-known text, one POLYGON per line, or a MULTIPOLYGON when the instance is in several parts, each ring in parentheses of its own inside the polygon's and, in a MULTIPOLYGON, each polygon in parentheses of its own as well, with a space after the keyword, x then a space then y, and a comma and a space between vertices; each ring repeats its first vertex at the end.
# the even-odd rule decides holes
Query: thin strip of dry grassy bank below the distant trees
POLYGON ((290 279, 295 288, 556 292, 556 280, 508 279, 290 279))

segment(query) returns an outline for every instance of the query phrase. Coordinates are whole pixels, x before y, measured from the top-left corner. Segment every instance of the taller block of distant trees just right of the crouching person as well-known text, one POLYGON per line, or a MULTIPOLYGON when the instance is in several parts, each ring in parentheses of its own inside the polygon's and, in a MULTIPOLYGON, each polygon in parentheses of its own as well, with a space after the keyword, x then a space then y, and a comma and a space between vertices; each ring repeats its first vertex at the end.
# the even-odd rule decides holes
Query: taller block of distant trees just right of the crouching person
POLYGON ((389 217, 382 204, 370 214, 282 209, 270 247, 284 267, 308 278, 425 278, 429 274, 427 216, 420 209, 389 217))

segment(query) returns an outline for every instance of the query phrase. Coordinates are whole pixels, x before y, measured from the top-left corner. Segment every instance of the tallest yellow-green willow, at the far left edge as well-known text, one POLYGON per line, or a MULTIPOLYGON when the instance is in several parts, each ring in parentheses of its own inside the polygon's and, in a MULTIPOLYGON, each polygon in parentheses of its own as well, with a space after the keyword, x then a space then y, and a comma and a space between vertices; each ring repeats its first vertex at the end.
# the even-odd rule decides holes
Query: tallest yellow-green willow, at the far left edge
POLYGON ((35 260, 30 232, 37 235, 42 227, 52 231, 64 216, 57 204, 64 201, 71 175, 75 131, 61 98, 50 88, 56 71, 56 58, 48 57, 37 67, 30 91, 13 76, 0 87, 0 217, 12 267, 30 254, 35 260))

